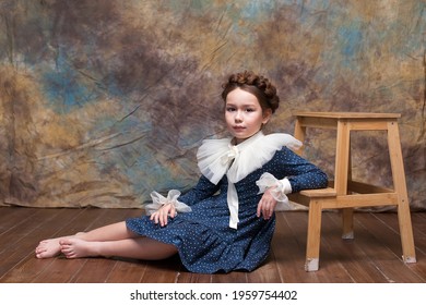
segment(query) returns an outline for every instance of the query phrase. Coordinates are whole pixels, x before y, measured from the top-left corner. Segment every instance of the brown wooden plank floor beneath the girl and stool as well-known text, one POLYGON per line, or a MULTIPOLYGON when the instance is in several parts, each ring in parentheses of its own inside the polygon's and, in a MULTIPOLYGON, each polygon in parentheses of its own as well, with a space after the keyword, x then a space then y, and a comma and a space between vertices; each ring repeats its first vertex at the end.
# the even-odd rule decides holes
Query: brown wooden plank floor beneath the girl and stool
POLYGON ((355 213, 355 240, 340 237, 340 216, 324 212, 320 270, 305 272, 307 212, 277 213, 272 252, 252 272, 198 274, 178 257, 163 261, 64 257, 36 259, 39 240, 72 234, 139 216, 135 209, 0 208, 0 282, 17 283, 424 283, 426 282, 426 213, 414 212, 417 263, 401 260, 395 213, 355 213))

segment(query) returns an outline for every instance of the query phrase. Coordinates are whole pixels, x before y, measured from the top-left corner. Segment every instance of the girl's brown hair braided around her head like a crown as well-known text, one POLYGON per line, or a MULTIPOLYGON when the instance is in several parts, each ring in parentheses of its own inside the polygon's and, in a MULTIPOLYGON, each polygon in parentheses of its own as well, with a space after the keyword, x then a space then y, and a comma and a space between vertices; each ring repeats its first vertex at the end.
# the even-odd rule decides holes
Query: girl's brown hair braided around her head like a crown
POLYGON ((226 97, 232 90, 240 88, 255 95, 263 110, 271 109, 274 113, 280 105, 275 86, 267 77, 257 75, 251 71, 232 74, 228 82, 222 85, 222 88, 224 89, 222 93, 224 101, 226 101, 226 97))

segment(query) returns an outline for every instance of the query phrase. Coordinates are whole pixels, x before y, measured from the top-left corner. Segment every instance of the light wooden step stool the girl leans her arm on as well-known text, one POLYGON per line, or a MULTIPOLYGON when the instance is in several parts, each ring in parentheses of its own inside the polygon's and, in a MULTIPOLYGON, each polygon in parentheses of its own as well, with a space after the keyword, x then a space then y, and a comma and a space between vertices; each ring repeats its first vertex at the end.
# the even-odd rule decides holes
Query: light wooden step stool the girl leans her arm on
MULTIPOLYGON (((309 207, 306 271, 319 268, 322 209, 341 209, 343 239, 353 239, 355 207, 397 206, 402 258, 415 263, 413 229, 406 192, 397 113, 298 112, 295 113, 295 137, 304 142, 307 127, 336 130, 334 185, 323 190, 305 190, 289 198, 309 207), (387 131, 393 190, 352 181, 351 131, 387 131)), ((297 151, 303 154, 303 148, 297 151)))

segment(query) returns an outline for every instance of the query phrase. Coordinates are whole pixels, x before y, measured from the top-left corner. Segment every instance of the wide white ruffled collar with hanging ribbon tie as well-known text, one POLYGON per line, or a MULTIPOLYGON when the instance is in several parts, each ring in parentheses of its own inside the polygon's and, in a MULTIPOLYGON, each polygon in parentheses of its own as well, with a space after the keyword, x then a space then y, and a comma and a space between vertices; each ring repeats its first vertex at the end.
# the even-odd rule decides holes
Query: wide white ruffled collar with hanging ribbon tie
POLYGON ((227 175, 230 228, 236 229, 238 223, 238 196, 234 183, 264 166, 283 146, 297 149, 301 143, 288 134, 264 135, 262 132, 238 145, 232 145, 230 138, 203 141, 197 152, 198 166, 214 184, 227 175))

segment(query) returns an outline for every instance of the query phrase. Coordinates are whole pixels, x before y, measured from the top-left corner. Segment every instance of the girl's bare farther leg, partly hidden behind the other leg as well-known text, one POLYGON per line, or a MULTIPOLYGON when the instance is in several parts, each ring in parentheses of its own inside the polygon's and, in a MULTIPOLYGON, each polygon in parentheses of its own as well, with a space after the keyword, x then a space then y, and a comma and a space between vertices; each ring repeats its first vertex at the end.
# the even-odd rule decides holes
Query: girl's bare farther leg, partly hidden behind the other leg
POLYGON ((36 247, 35 254, 37 258, 49 258, 59 255, 61 252, 59 242, 63 239, 78 237, 84 241, 116 241, 135 236, 138 235, 127 229, 126 222, 121 221, 88 232, 76 233, 75 235, 42 241, 36 247))

